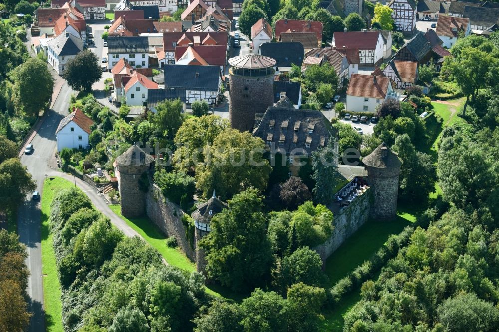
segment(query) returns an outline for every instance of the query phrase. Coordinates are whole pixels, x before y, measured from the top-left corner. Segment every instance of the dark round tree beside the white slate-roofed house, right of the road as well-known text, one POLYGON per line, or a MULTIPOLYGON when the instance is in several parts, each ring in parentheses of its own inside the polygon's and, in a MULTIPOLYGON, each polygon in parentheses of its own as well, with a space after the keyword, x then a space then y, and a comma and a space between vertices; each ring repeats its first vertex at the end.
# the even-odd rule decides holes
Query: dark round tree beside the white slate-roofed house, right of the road
POLYGON ((102 77, 97 55, 90 50, 79 52, 67 62, 62 77, 73 90, 92 90, 92 84, 102 77))

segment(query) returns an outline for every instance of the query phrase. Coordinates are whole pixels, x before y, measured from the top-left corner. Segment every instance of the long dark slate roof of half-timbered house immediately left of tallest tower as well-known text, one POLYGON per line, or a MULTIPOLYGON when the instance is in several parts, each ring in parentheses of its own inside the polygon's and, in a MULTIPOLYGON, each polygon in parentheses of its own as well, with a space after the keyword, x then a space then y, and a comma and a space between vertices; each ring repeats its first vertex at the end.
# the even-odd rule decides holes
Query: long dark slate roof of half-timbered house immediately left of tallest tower
POLYGON ((165 89, 218 91, 219 66, 165 65, 165 89))

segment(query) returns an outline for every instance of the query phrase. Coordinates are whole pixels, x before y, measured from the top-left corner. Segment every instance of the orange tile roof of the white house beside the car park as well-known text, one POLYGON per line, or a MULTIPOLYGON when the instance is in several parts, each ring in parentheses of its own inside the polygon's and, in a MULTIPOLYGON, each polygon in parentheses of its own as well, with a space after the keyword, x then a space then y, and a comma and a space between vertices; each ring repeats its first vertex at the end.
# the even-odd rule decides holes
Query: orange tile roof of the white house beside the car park
POLYGON ((352 74, 348 82, 347 95, 385 99, 390 79, 382 76, 352 74))

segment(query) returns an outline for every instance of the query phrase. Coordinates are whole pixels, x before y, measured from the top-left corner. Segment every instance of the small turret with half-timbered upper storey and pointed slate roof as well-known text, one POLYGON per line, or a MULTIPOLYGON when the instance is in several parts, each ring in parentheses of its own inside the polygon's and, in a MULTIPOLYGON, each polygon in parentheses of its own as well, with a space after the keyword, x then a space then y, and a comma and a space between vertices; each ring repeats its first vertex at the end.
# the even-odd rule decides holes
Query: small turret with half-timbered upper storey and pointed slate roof
POLYGON ((215 197, 215 190, 213 196, 205 203, 197 206, 196 211, 191 214, 194 219, 195 227, 195 241, 196 241, 196 271, 205 272, 205 251, 199 247, 199 241, 206 236, 210 231, 210 222, 215 214, 222 212, 227 208, 227 204, 215 197))

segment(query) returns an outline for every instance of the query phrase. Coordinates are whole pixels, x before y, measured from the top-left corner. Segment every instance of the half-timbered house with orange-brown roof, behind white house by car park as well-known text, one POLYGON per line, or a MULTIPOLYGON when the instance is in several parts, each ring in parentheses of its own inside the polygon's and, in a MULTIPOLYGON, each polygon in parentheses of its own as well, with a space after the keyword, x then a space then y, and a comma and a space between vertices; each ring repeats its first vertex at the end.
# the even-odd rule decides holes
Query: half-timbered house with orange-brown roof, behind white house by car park
POLYGON ((395 82, 393 88, 406 89, 418 81, 418 63, 392 59, 383 70, 376 68, 371 75, 388 77, 395 82))

